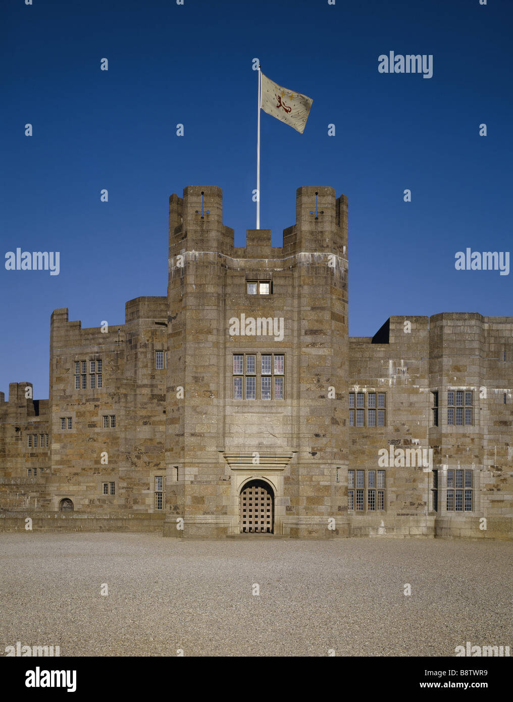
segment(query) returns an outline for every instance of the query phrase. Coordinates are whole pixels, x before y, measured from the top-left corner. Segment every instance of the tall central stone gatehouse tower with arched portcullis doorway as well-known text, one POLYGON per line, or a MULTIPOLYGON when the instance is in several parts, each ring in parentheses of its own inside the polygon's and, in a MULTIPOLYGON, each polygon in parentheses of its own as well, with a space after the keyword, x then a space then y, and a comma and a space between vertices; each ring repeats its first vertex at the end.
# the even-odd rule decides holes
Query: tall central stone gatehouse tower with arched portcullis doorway
POLYGON ((347 199, 302 187, 296 202, 283 247, 248 230, 244 248, 220 188, 170 199, 166 534, 183 515, 192 534, 347 531, 347 199), (247 495, 244 520, 255 480, 271 497, 247 495))

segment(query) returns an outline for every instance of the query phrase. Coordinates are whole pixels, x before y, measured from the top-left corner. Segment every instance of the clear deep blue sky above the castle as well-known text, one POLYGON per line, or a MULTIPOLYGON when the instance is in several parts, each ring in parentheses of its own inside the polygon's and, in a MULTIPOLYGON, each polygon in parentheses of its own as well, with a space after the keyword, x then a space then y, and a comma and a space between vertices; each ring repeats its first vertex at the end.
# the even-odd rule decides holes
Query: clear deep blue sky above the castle
POLYGON ((391 314, 512 314, 513 270, 454 266, 467 247, 513 249, 512 19, 510 0, 4 3, 1 260, 59 251, 60 274, 0 267, 0 390, 28 380, 48 397, 55 308, 115 326, 126 300, 166 294, 171 193, 222 187, 245 245, 255 57, 314 100, 302 135, 262 112, 261 226, 281 246, 296 188, 347 195, 349 333, 391 314), (432 54, 433 77, 380 74, 389 51, 432 54))

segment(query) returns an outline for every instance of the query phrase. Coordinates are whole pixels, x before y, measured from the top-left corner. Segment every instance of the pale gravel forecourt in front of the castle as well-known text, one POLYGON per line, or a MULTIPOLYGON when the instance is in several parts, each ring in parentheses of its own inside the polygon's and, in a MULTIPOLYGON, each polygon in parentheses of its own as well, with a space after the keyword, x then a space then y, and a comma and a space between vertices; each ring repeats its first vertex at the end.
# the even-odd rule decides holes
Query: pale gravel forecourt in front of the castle
POLYGON ((512 554, 497 541, 4 533, 0 655, 17 641, 61 656, 513 651, 512 554))

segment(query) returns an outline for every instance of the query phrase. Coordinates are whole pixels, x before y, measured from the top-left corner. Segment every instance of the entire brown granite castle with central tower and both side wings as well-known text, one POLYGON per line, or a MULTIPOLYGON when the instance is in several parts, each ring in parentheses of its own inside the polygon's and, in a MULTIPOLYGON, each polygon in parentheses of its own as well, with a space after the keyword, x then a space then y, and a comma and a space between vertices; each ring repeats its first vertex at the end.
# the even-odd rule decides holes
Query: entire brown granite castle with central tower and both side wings
POLYGON ((0 393, 0 529, 513 538, 513 317, 349 337, 348 257, 331 187, 281 247, 234 246, 218 187, 173 194, 167 296, 54 310, 49 399, 0 393))

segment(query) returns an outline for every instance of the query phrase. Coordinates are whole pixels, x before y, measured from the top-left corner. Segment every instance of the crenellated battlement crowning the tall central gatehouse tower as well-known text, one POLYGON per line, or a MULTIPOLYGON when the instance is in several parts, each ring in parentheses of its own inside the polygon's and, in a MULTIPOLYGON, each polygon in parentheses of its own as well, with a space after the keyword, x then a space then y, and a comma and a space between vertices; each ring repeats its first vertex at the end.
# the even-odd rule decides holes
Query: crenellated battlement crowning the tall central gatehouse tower
POLYGON ((222 190, 189 185, 169 198, 169 258, 210 251, 246 258, 281 258, 294 253, 335 253, 347 258, 347 197, 325 186, 296 191, 295 224, 284 230, 283 246, 271 246, 271 230, 246 231, 246 249, 234 247, 234 230, 222 223, 222 190))

